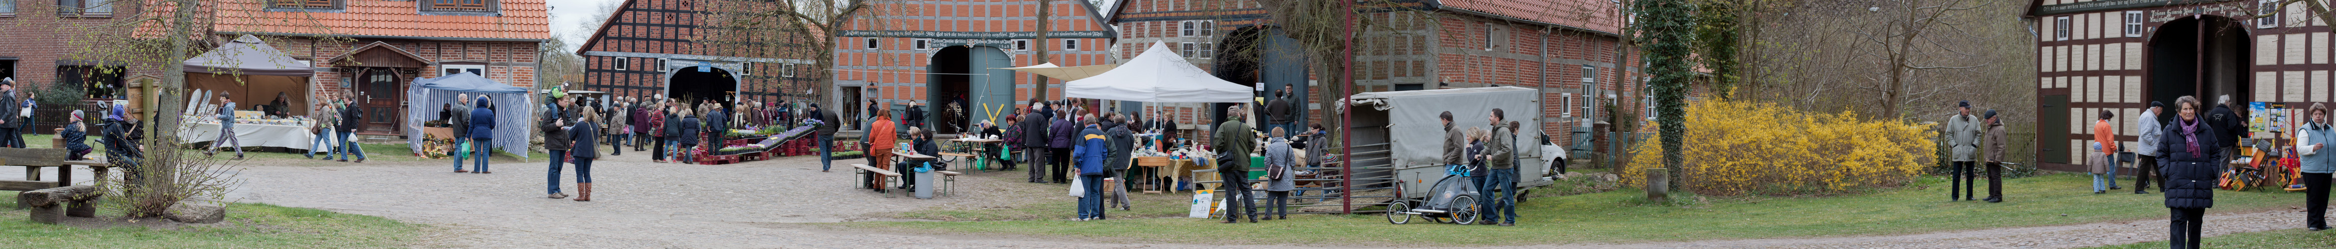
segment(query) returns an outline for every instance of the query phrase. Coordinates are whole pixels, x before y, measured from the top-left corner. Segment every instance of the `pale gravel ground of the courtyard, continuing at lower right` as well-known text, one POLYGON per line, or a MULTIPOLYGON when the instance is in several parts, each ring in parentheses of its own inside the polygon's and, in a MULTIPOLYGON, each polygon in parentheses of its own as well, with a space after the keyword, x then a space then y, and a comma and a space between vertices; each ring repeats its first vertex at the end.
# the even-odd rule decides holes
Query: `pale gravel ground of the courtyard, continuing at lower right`
MULTIPOLYGON (((787 249, 927 249, 927 247, 1014 247, 1014 249, 1131 249, 1131 247, 1212 247, 1222 244, 1112 244, 1061 237, 997 235, 902 235, 846 230, 836 221, 899 221, 892 212, 927 207, 1004 207, 1033 202, 1030 195, 1007 195, 1023 172, 981 172, 962 177, 955 198, 883 198, 850 188, 855 161, 836 161, 834 172, 820 172, 818 158, 794 156, 736 165, 649 163, 647 154, 628 151, 596 161, 591 202, 551 200, 544 195, 547 163, 495 163, 495 175, 458 175, 451 161, 430 165, 350 163, 306 168, 294 161, 255 158, 241 177, 245 186, 229 198, 287 207, 320 207, 350 214, 388 216, 411 223, 434 223, 413 247, 787 247, 787 249), (997 177, 1009 175, 1009 177, 997 177)), ((84 170, 86 172, 86 170, 84 170)), ((19 172, 21 175, 21 172, 19 172)), ((575 193, 575 170, 561 186, 575 193)), ((1065 198, 1068 195, 1044 195, 1065 198)), ((1065 214, 1068 216, 1068 214, 1065 214)), ((2252 233, 2299 226, 2301 209, 2229 214, 2210 209, 2208 235, 2252 233)), ((1883 237, 1782 237, 1782 240, 1710 240, 1652 244, 1560 244, 1579 249, 1675 249, 1675 247, 1787 247, 1787 249, 2065 249, 2165 240, 2165 221, 2112 221, 2039 228, 1990 228, 1883 237)), ((1289 244, 1250 244, 1257 249, 1289 244)), ((1339 247, 1355 249, 1355 247, 1339 247)), ((1532 247, 1551 249, 1551 247, 1532 247)))

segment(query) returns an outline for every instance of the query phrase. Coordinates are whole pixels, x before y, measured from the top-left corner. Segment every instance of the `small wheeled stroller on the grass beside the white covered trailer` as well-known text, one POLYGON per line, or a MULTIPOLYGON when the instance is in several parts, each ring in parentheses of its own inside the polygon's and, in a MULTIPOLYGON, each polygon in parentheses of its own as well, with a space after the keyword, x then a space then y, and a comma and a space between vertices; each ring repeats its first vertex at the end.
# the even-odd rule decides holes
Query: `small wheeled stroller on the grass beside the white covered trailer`
MULTIPOLYGON (((1388 223, 1411 223, 1411 216, 1423 216, 1437 223, 1476 223, 1481 219, 1476 198, 1476 184, 1469 182, 1467 165, 1446 165, 1444 179, 1427 191, 1427 200, 1413 205, 1411 200, 1388 202, 1388 223)), ((1402 193, 1402 191, 1397 191, 1402 193)))

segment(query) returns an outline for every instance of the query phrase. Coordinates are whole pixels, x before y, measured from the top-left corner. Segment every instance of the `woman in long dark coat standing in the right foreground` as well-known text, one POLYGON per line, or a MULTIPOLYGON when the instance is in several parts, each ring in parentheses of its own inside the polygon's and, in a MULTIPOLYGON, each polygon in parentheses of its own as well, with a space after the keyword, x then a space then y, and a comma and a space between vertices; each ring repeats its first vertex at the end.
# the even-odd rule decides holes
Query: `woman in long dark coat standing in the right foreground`
POLYGON ((2172 209, 2168 223, 2172 240, 2168 244, 2198 249, 2198 228, 2205 223, 2205 209, 2215 207, 2215 182, 2224 158, 2215 126, 2198 119, 2198 98, 2182 95, 2175 105, 2182 112, 2172 123, 2165 123, 2165 137, 2158 140, 2165 209, 2172 209))

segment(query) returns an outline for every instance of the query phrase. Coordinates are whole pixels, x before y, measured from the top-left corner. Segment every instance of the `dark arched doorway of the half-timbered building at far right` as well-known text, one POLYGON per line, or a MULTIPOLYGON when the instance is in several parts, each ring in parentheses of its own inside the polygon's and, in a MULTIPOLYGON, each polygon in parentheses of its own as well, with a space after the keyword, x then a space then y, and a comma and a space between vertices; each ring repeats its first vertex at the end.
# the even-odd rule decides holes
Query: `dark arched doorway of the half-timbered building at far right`
MULTIPOLYGON (((2254 88, 2247 84, 2252 81, 2247 63, 2254 56, 2254 42, 2250 42, 2247 30, 2229 16, 2165 21, 2149 37, 2149 88, 2144 93, 2149 100, 2165 105, 2175 105, 2175 98, 2182 95, 2198 95, 2198 102, 2205 102, 2203 109, 2215 107, 2217 95, 2231 95, 2231 102, 2250 102, 2254 88)), ((2168 107, 2168 112, 2175 109, 2168 107)), ((2161 114, 2158 119, 2170 121, 2172 114, 2161 114)))

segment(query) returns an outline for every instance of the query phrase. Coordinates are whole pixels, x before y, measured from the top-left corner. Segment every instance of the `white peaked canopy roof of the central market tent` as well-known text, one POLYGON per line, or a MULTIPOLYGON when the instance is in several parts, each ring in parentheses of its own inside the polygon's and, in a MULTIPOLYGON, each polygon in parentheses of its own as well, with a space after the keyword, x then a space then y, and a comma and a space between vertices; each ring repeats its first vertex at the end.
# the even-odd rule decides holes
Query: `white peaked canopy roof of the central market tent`
MULTIPOLYGON (((1037 67, 1037 65, 1033 65, 1037 67)), ((1138 102, 1250 102, 1250 86, 1217 79, 1168 51, 1166 42, 1128 58, 1110 72, 1063 84, 1065 98, 1138 102)))

